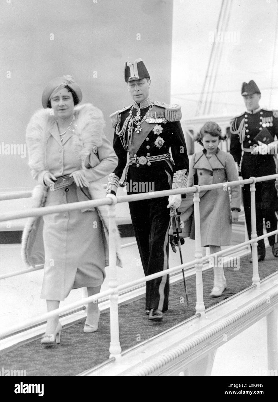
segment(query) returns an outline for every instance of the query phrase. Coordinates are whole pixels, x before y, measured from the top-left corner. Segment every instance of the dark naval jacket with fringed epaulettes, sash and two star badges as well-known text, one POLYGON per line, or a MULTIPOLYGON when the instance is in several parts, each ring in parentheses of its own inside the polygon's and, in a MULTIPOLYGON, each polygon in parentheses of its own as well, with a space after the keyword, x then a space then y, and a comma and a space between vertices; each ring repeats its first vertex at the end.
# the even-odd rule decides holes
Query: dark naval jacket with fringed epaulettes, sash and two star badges
MULTIPOLYGON (((148 113, 150 103, 151 101, 148 98, 140 104, 142 117, 148 113)), ((136 103, 111 115, 112 125, 115 127, 113 148, 118 156, 119 162, 117 168, 110 175, 107 192, 116 194, 119 180, 126 166, 128 154, 132 158, 136 157, 136 162, 138 163, 129 162, 126 168, 125 179, 128 178, 130 166, 136 166, 136 168, 138 168, 138 176, 140 176, 141 179, 144 178, 146 182, 149 181, 150 172, 152 170, 161 171, 163 166, 169 177, 168 182, 169 184, 171 183, 170 188, 187 187, 189 160, 183 130, 179 122, 181 119, 181 108, 177 105, 173 105, 172 107, 172 105, 166 105, 165 103, 154 102, 149 112, 150 118, 147 118, 146 121, 140 125, 142 131, 137 133, 136 125, 134 124, 134 129, 130 136, 128 127, 126 127, 123 132, 119 133, 119 131, 123 128, 124 122, 130 115, 131 109, 132 116, 135 117, 138 111, 138 105, 136 103), (171 149, 172 160, 160 160, 161 155, 168 154, 169 148, 171 149), (155 157, 157 160, 148 162, 148 157, 155 157), (172 184, 173 175, 174 180, 172 184)), ((128 182, 128 184, 130 183, 128 182)), ((163 189, 169 189, 169 187, 161 188, 158 177, 154 182, 154 191, 163 189)))

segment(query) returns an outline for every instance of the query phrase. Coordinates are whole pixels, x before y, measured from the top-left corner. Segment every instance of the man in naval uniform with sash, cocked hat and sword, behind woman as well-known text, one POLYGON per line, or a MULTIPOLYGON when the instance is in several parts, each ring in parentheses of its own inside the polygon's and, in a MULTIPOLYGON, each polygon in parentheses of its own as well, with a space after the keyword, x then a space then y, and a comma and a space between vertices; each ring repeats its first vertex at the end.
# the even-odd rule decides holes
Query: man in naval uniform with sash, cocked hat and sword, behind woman
MULTIPOLYGON (((189 160, 180 123, 181 107, 150 98, 150 75, 142 59, 133 64, 126 62, 124 75, 134 103, 110 116, 119 162, 108 178, 108 196, 116 195, 128 154, 128 194, 186 187, 189 160)), ((178 208, 180 204, 181 195, 129 203, 145 275, 168 269, 168 208, 178 208)), ((150 320, 162 320, 163 312, 168 310, 168 293, 168 275, 146 283, 146 312, 150 320)))

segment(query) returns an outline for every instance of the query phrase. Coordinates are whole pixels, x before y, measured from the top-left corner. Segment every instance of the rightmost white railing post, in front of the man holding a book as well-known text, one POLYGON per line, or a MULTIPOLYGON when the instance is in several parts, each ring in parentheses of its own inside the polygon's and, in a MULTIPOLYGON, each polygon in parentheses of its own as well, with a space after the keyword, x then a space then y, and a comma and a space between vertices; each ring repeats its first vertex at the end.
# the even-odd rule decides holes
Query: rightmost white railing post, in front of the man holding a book
MULTIPOLYGON (((251 197, 251 239, 256 239, 257 236, 257 224, 256 224, 256 177, 250 177, 253 183, 250 184, 250 197, 251 197)), ((260 287, 259 267, 258 267, 258 242, 252 243, 252 259, 253 259, 253 285, 260 287)))

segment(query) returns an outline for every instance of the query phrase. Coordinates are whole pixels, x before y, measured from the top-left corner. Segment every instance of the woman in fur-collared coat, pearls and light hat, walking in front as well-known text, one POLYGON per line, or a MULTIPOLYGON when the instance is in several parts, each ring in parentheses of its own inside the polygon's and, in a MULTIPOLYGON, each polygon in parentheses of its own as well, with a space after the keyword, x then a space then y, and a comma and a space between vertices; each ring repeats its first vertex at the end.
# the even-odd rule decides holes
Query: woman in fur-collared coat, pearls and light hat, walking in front
MULTIPOLYGON (((78 105, 81 99, 71 76, 55 78, 43 91, 44 109, 27 126, 29 166, 39 182, 34 206, 105 197, 99 180, 115 169, 118 158, 103 133, 101 111, 89 103, 78 105), (68 185, 56 189, 61 176, 68 176, 68 185)), ((106 207, 29 218, 23 258, 28 266, 44 263, 41 297, 48 311, 59 308, 71 289, 87 287, 88 296, 99 293, 108 265, 107 228, 106 207)), ((84 332, 97 330, 99 315, 98 305, 88 304, 84 332)), ((60 343, 61 329, 58 315, 49 319, 41 342, 60 343)))

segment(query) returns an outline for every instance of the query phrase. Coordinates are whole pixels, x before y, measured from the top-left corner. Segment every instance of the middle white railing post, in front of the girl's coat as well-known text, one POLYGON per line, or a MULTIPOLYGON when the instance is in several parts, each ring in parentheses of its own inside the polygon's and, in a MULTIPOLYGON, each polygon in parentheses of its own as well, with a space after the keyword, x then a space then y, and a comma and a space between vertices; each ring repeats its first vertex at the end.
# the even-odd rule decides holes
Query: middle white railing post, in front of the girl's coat
POLYGON ((202 261, 202 249, 201 249, 201 227, 200 227, 200 186, 197 187, 197 193, 193 195, 194 201, 194 220, 195 220, 195 258, 197 262, 195 264, 196 269, 196 314, 201 316, 205 315, 204 305, 204 293, 203 293, 203 261, 202 261))

